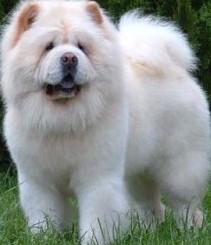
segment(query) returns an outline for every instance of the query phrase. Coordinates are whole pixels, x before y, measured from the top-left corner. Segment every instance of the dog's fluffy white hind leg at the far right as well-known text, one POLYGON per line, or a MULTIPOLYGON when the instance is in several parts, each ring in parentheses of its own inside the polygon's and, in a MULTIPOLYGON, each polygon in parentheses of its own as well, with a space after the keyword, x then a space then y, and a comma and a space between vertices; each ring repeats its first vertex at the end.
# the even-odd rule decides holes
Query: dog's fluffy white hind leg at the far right
POLYGON ((163 191, 167 194, 178 225, 201 227, 201 202, 209 175, 209 160, 201 152, 187 152, 170 160, 163 191))

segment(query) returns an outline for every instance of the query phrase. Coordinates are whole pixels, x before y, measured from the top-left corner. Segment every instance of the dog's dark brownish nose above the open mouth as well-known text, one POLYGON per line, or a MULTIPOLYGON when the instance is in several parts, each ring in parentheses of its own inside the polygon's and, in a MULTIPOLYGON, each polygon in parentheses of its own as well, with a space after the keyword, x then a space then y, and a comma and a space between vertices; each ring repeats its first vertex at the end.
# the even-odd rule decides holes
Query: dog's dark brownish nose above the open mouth
POLYGON ((78 64, 78 58, 72 52, 64 53, 60 61, 65 72, 74 70, 78 64))

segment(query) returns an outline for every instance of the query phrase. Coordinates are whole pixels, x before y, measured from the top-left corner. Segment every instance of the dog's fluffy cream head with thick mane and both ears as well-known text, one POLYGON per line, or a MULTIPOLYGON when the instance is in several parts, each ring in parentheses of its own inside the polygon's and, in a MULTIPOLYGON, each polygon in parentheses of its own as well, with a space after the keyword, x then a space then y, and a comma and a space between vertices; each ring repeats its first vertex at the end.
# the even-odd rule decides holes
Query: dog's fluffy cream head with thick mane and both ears
POLYGON ((28 124, 36 114, 45 124, 47 118, 57 121, 56 116, 62 121, 82 118, 83 125, 93 121, 121 80, 117 39, 96 2, 22 3, 1 45, 6 103, 25 116, 33 110, 28 124))

